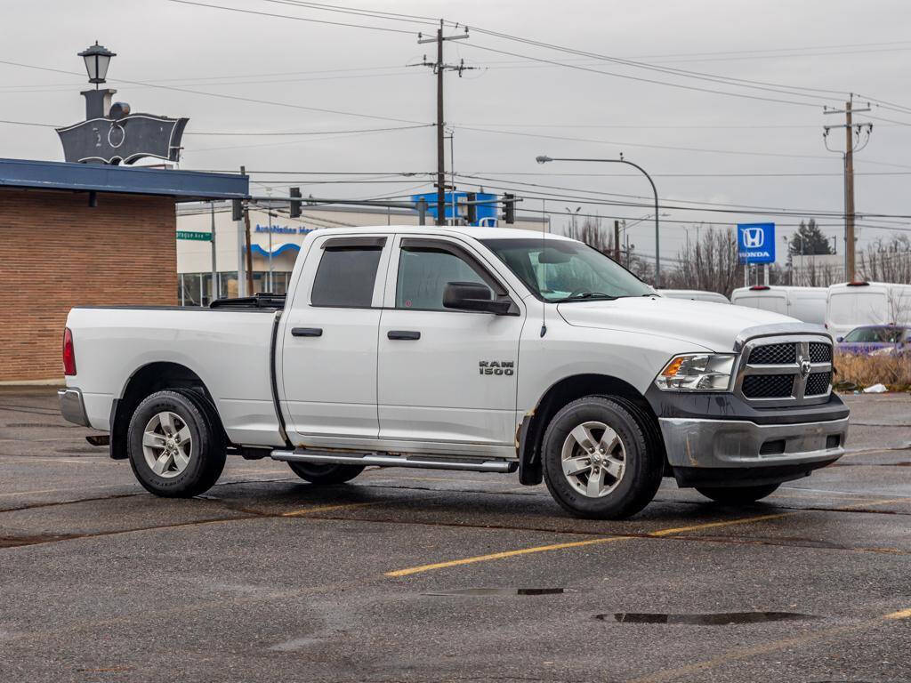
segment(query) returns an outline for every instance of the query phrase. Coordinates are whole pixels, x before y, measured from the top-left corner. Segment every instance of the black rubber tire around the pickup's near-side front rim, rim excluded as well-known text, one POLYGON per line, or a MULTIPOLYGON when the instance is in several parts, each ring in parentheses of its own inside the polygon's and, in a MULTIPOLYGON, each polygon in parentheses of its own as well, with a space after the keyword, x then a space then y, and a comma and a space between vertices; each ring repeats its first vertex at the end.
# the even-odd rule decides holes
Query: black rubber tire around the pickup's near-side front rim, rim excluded
MULTIPOLYGON (((541 444, 544 481, 554 499, 570 515, 589 519, 623 519, 649 505, 664 472, 664 455, 650 439, 641 411, 608 396, 586 396, 560 410, 548 424, 541 444), (583 423, 597 422, 617 433, 624 451, 624 469, 614 488, 600 497, 580 493, 563 473, 562 451, 569 433, 583 423)), ((597 435, 596 435, 597 436, 597 435)))

